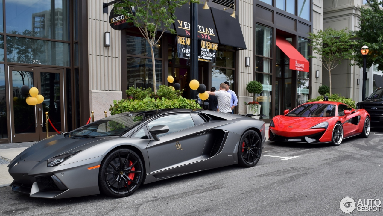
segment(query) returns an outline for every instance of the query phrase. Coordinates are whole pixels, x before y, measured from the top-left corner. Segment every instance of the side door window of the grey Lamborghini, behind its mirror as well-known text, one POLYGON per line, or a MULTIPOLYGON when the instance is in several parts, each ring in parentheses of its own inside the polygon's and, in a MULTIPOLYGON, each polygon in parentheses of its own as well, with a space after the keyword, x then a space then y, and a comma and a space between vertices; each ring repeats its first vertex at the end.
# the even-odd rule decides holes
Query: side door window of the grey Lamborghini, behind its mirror
POLYGON ((159 117, 158 119, 154 119, 147 124, 149 129, 156 125, 167 125, 169 126, 169 132, 165 134, 159 134, 158 136, 164 136, 167 134, 172 134, 174 132, 187 129, 189 127, 194 126, 193 119, 190 114, 176 114, 176 115, 166 115, 163 117, 159 117))

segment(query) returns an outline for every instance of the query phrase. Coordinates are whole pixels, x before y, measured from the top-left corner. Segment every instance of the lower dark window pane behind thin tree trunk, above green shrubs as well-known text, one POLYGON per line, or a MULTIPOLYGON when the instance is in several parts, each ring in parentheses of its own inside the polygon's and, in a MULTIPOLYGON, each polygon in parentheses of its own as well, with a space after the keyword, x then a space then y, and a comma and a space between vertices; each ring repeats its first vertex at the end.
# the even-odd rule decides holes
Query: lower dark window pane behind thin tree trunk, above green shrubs
MULTIPOLYGON (((127 87, 151 88, 153 90, 152 59, 126 58, 127 87)), ((157 89, 162 85, 162 61, 155 60, 155 78, 157 89)))

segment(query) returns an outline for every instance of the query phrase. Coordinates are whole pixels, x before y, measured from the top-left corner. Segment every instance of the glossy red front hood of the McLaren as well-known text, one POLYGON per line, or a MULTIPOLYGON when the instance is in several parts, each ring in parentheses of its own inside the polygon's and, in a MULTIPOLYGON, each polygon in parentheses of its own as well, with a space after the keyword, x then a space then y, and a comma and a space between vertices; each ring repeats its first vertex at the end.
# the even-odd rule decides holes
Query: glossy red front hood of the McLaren
POLYGON ((332 117, 293 117, 293 116, 284 116, 281 115, 277 122, 278 127, 281 128, 299 128, 299 129, 309 129, 319 123, 327 121, 332 117))

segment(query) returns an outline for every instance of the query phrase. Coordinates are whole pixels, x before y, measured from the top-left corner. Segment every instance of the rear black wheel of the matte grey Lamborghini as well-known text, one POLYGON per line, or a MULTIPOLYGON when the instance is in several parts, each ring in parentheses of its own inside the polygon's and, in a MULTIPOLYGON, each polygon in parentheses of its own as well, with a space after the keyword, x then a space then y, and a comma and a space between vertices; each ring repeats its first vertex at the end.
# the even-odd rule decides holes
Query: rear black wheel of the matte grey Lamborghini
POLYGON ((242 134, 238 146, 238 164, 241 167, 254 167, 262 154, 262 140, 254 130, 242 134))

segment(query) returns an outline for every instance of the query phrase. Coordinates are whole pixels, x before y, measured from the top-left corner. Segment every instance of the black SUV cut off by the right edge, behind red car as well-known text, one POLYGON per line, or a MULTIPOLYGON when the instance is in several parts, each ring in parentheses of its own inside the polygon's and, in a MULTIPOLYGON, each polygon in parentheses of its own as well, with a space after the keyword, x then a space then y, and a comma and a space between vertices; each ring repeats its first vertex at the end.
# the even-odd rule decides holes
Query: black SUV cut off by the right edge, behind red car
POLYGON ((372 124, 383 126, 383 88, 376 89, 365 101, 358 102, 357 109, 365 109, 372 124))

